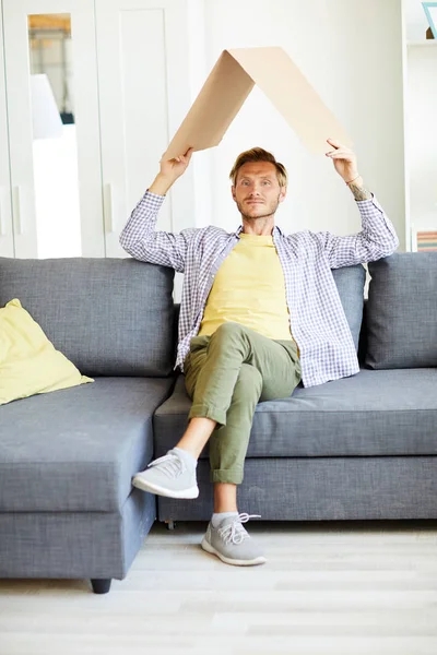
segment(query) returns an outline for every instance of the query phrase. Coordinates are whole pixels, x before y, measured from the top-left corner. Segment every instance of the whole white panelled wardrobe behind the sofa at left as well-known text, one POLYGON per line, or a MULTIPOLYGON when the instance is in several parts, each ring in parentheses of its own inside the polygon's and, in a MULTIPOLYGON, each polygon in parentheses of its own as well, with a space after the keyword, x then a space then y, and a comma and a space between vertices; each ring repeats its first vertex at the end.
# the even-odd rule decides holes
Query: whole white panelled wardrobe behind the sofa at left
MULTIPOLYGON (((119 233, 153 181, 161 155, 190 105, 187 2, 1 2, 0 254, 126 257, 119 233), (55 152, 62 148, 55 140, 34 140, 28 17, 36 21, 42 15, 49 15, 54 23, 62 16, 71 19, 74 124, 69 127, 67 141, 73 162, 63 177, 71 178, 76 200, 63 191, 64 180, 54 162, 55 152), (42 170, 45 198, 51 201, 51 224, 40 203, 42 170), (68 223, 73 210, 75 226, 68 223), (72 250, 76 237, 78 248, 72 250)), ((190 175, 178 212, 189 202, 190 175)), ((179 229, 174 223, 170 199, 160 216, 160 228, 179 229)))

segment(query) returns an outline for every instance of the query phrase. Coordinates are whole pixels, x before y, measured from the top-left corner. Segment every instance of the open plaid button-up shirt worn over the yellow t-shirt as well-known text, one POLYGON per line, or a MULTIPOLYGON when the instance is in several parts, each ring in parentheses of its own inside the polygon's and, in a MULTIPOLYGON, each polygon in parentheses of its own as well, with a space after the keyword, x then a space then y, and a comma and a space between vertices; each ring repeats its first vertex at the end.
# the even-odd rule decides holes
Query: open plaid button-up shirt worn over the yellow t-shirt
MULTIPOLYGON (((238 243, 235 233, 209 226, 174 235, 156 231, 163 195, 145 192, 120 235, 133 258, 185 273, 175 368, 184 371, 190 341, 199 332, 206 299, 218 267, 238 243)), ((321 384, 359 371, 351 330, 331 269, 351 266, 392 254, 399 246, 391 222, 377 200, 357 203, 363 229, 346 237, 304 230, 284 235, 275 226, 273 242, 285 278, 291 331, 299 347, 304 386, 321 384)))

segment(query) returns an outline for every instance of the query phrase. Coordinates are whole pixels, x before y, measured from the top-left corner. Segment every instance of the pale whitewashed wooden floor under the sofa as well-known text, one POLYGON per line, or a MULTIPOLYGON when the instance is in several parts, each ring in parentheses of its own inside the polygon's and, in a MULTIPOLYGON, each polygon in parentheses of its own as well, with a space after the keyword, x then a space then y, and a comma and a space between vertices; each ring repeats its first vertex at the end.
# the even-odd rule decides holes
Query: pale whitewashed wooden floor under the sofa
POLYGON ((0 655, 436 655, 437 524, 256 523, 268 563, 155 525, 122 582, 0 581, 0 655))

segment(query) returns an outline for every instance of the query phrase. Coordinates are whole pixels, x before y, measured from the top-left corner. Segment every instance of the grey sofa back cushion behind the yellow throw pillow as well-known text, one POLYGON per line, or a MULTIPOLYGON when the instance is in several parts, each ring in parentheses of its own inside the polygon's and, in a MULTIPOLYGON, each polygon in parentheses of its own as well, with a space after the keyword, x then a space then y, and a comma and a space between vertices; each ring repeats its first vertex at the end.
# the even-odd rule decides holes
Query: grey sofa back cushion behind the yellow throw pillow
POLYGON ((87 376, 168 376, 174 271, 133 259, 0 258, 0 307, 19 298, 87 376))

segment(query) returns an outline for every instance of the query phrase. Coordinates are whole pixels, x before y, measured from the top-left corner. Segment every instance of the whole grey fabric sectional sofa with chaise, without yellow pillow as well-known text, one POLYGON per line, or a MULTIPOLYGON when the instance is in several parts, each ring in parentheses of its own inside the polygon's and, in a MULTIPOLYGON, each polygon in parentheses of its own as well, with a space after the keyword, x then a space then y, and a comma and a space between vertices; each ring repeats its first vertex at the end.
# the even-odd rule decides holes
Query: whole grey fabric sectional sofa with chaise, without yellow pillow
MULTIPOLYGON (((260 403, 239 489, 263 520, 437 519, 437 253, 333 271, 362 371, 260 403)), ((173 370, 173 270, 126 260, 0 259, 19 298, 92 384, 0 407, 0 577, 122 579, 153 522, 208 520, 132 475, 172 448, 190 401, 173 370)), ((1 374, 1 369, 0 369, 1 374)))

